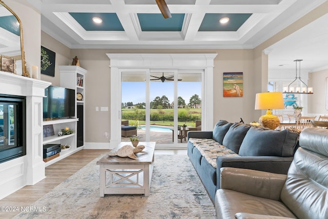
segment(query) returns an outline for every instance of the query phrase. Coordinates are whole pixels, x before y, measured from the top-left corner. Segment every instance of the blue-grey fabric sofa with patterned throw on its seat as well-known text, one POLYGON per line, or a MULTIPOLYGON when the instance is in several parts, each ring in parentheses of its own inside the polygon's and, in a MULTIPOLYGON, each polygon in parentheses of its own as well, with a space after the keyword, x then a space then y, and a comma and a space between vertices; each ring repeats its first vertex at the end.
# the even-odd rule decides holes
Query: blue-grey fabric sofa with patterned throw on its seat
POLYGON ((220 168, 235 167, 286 174, 298 147, 298 134, 220 120, 213 131, 188 132, 188 156, 214 202, 220 168))

